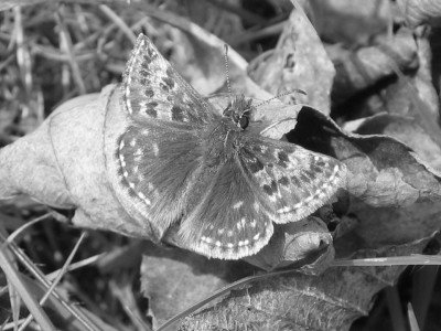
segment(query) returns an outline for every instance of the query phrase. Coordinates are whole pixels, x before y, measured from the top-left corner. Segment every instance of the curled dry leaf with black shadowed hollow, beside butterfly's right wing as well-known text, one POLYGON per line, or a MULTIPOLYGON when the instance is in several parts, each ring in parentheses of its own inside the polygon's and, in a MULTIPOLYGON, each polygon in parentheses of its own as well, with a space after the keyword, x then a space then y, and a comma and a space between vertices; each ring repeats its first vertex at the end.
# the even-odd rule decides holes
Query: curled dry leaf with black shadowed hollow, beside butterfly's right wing
POLYGON ((406 206, 441 197, 440 174, 394 138, 346 134, 320 111, 303 107, 288 140, 343 161, 347 191, 368 205, 406 206))

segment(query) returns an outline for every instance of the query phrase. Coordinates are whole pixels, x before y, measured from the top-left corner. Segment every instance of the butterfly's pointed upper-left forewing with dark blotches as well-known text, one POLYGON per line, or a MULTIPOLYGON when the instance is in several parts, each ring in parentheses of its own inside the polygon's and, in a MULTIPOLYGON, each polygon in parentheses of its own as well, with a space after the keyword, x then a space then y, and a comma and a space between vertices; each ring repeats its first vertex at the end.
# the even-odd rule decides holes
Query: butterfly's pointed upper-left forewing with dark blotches
POLYGON ((135 121, 163 120, 202 126, 217 117, 205 102, 140 34, 122 82, 122 103, 135 121))

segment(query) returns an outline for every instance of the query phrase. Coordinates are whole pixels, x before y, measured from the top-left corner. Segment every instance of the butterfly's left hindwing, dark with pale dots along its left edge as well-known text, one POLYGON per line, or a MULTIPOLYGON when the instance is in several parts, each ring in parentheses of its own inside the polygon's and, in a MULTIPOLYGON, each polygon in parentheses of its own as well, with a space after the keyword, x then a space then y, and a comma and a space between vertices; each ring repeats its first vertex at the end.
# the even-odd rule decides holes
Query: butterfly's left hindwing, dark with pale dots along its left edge
POLYGON ((202 167, 201 146, 192 131, 153 125, 132 125, 120 137, 121 184, 148 218, 166 226, 181 217, 202 167))

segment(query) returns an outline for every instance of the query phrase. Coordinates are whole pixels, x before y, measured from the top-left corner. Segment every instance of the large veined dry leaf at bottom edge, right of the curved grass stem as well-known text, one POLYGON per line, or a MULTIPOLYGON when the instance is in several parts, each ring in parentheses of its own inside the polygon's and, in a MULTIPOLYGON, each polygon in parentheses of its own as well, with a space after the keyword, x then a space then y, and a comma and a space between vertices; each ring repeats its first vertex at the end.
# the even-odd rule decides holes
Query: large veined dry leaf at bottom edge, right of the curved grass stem
MULTIPOLYGON (((422 252, 431 237, 400 246, 361 250, 351 258, 422 252)), ((348 330, 366 316, 373 296, 394 285, 404 266, 333 267, 321 276, 292 274, 256 281, 189 317, 185 330, 348 330), (354 289, 357 289, 354 291, 354 289)))

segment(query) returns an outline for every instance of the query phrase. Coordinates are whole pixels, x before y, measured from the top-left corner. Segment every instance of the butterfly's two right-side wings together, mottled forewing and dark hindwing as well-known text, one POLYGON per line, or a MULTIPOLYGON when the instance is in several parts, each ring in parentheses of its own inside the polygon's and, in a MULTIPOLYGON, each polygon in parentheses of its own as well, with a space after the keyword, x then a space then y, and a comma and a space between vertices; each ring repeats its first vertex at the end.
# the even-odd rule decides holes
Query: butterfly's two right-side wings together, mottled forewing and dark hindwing
POLYGON ((246 143, 219 167, 182 222, 181 234, 192 248, 211 257, 256 254, 268 244, 272 222, 310 215, 344 181, 345 166, 333 158, 289 142, 243 137, 246 143))

